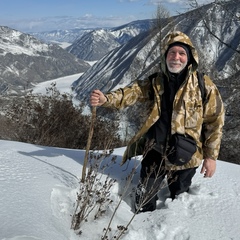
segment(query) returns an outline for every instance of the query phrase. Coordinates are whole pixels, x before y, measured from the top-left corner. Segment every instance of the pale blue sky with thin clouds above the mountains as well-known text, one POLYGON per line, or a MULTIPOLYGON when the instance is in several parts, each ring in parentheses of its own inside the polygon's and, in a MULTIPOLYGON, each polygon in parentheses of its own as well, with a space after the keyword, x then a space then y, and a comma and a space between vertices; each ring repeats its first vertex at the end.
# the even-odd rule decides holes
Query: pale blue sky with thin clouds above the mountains
MULTIPOLYGON (((210 0, 198 0, 199 4, 210 0)), ((135 20, 151 19, 161 4, 171 15, 189 10, 183 0, 0 0, 0 25, 24 31, 55 30, 78 21, 82 28, 116 27, 135 20), (58 17, 58 20, 56 18, 58 17), (65 17, 65 18, 64 18, 65 17), (67 21, 66 17, 72 18, 67 21), (50 24, 46 18, 52 18, 50 24), (60 19, 59 19, 60 18, 60 19)))

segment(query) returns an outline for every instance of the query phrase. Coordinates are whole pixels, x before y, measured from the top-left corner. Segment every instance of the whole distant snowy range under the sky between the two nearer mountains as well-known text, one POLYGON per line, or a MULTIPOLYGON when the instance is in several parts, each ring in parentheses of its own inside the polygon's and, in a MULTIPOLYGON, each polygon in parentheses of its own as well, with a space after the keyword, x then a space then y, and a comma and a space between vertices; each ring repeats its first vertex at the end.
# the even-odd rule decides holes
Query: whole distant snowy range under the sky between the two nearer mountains
POLYGON ((101 59, 112 49, 128 42, 138 34, 148 31, 154 20, 138 20, 113 28, 74 28, 69 30, 53 30, 31 32, 36 38, 67 46, 67 51, 87 61, 101 59), (67 44, 66 44, 67 43, 67 44))

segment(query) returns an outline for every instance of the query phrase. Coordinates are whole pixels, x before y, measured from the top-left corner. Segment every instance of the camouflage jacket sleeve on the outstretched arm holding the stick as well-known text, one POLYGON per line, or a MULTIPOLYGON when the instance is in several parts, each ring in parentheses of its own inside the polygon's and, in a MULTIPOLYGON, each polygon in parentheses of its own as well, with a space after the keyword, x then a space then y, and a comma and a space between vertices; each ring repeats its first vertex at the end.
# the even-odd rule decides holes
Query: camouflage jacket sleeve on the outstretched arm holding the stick
POLYGON ((107 102, 103 107, 123 109, 137 101, 144 102, 149 99, 150 81, 136 80, 130 86, 119 88, 116 91, 105 94, 107 102))

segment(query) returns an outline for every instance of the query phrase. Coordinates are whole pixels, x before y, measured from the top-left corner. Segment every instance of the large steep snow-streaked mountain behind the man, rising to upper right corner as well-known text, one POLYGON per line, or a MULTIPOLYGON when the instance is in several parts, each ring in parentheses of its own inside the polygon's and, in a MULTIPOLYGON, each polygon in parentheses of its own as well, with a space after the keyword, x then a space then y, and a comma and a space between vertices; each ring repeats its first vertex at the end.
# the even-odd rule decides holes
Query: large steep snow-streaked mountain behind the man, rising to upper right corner
MULTIPOLYGON (((239 1, 228 1, 223 6, 212 3, 169 19, 169 22, 163 24, 161 31, 161 35, 165 36, 174 26, 175 30, 181 30, 189 35, 198 49, 200 70, 208 74, 219 87, 228 113, 220 157, 229 159, 231 156, 229 161, 238 163, 240 163, 239 12, 239 1), (209 29, 206 28, 206 24, 209 29)), ((159 30, 145 31, 104 55, 73 83, 76 97, 87 101, 93 89, 108 92, 156 71, 160 56, 158 37, 159 30)), ((99 109, 101 114, 100 111, 103 110, 99 109)), ((137 112, 132 108, 122 112, 121 120, 126 122, 125 128, 126 125, 133 128, 138 124, 137 112)), ((106 116, 105 112, 104 114, 106 116)))

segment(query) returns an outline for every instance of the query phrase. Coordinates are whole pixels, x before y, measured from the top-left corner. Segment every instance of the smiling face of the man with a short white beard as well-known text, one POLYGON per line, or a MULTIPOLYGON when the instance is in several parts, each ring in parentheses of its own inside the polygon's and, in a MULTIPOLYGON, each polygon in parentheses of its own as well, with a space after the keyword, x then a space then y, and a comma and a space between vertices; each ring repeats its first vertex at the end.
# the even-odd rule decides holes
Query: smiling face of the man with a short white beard
POLYGON ((180 73, 187 66, 187 62, 188 57, 184 48, 173 46, 168 50, 166 64, 169 72, 180 73))

